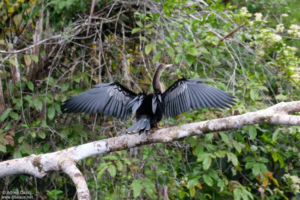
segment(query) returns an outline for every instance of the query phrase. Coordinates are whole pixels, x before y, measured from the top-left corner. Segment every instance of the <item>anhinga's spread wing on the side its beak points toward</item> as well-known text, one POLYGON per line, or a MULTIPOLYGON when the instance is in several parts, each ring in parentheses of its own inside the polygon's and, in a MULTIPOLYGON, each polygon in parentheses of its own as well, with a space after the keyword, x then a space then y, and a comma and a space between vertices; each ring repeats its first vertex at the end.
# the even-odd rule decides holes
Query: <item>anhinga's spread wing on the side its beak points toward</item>
POLYGON ((166 118, 174 117, 190 109, 230 108, 235 97, 203 83, 205 79, 177 80, 162 94, 163 112, 166 118))

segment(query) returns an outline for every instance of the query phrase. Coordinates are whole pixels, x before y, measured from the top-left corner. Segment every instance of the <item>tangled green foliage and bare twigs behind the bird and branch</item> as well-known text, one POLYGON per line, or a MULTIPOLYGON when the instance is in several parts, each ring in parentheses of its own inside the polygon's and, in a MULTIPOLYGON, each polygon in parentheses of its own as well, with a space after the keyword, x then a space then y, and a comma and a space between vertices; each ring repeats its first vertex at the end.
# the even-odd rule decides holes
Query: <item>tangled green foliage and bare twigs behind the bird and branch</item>
MULTIPOLYGON (((182 76, 238 98, 232 109, 165 119, 168 127, 299 100, 295 1, 0 2, 0 161, 119 136, 135 120, 62 114, 67 98, 113 80, 148 91, 182 76), (244 25, 242 25, 244 23, 244 25), (281 25, 282 24, 282 25, 281 25), (232 29, 241 25, 225 40, 232 29)), ((92 199, 299 199, 299 127, 261 124, 78 163, 92 199)), ((76 197, 67 175, 15 175, 1 190, 76 197)))

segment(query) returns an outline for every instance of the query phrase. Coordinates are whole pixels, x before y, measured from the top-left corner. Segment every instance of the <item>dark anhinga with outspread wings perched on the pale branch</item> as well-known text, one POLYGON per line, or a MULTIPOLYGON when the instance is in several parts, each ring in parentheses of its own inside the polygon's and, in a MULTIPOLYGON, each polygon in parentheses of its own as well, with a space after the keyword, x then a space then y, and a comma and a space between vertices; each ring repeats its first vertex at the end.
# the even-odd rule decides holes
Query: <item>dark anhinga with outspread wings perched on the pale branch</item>
POLYGON ((66 100, 62 112, 104 113, 116 118, 127 119, 136 111, 137 122, 123 134, 139 131, 150 133, 151 128, 160 128, 158 122, 200 108, 230 108, 235 97, 203 83, 205 79, 182 78, 165 92, 159 82, 161 73, 172 64, 160 64, 155 70, 149 93, 134 93, 117 82, 97 84, 88 91, 66 100))

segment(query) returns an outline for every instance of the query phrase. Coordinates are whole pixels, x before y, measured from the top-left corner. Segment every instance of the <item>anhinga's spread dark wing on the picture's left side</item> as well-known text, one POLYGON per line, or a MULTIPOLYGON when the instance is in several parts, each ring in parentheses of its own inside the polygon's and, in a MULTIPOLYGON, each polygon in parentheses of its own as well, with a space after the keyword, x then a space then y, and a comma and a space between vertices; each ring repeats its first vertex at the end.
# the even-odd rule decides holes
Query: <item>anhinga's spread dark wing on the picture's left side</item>
MULTIPOLYGON (((62 112, 104 113, 112 117, 127 119, 132 107, 139 107, 143 102, 143 94, 136 94, 123 85, 101 83, 88 91, 82 92, 64 101, 62 112), (133 106, 128 106, 128 105, 133 106)), ((134 109, 137 109, 135 108, 134 109)))

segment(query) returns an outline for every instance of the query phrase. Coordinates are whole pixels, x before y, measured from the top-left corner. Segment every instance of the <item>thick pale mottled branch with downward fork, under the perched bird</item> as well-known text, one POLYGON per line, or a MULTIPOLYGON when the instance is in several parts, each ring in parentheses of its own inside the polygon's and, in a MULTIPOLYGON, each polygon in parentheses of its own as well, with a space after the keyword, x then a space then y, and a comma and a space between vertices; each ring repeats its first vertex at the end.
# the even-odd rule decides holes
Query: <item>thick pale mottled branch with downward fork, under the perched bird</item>
POLYGON ((81 159, 157 142, 169 143, 186 137, 230 130, 253 124, 281 124, 300 126, 300 116, 289 115, 300 112, 300 101, 281 102, 264 110, 247 112, 226 118, 184 124, 157 130, 150 135, 125 135, 56 151, 48 154, 30 155, 0 163, 0 178, 15 174, 30 174, 44 178, 49 171, 67 173, 76 184, 79 199, 89 198, 82 174, 76 168, 81 159))

